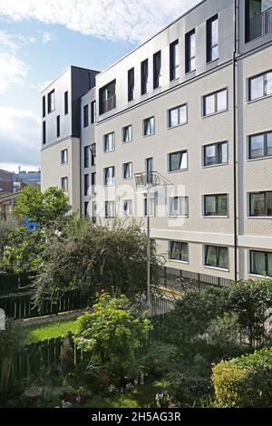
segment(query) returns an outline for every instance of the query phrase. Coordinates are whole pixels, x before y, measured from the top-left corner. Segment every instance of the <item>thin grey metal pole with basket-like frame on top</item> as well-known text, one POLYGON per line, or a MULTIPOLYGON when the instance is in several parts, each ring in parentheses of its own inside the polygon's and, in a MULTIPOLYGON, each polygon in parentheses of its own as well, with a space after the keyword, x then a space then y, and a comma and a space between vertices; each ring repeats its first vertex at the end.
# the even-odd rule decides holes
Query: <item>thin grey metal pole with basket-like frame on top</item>
POLYGON ((169 179, 164 178, 157 171, 144 171, 134 175, 137 192, 146 194, 146 219, 147 219, 147 283, 146 283, 146 305, 151 309, 151 215, 150 194, 151 189, 163 186, 165 189, 173 185, 169 179))

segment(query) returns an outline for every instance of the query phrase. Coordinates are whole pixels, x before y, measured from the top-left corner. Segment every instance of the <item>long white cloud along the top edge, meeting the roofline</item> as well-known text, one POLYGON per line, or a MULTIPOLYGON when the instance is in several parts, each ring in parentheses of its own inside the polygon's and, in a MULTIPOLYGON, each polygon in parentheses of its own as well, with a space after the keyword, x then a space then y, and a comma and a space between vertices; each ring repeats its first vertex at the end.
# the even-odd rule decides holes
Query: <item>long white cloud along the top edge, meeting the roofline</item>
POLYGON ((0 0, 0 15, 61 24, 113 41, 142 42, 199 0, 0 0))

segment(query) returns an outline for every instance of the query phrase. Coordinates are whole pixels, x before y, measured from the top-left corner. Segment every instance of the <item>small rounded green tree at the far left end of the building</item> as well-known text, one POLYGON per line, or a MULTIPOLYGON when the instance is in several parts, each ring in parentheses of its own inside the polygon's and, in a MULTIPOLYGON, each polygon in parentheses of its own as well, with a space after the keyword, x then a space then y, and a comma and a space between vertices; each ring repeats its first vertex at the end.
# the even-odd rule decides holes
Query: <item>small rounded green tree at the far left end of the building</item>
POLYGON ((51 187, 43 193, 39 186, 27 185, 16 201, 14 213, 18 218, 29 218, 44 227, 64 218, 70 210, 69 199, 63 189, 51 187))

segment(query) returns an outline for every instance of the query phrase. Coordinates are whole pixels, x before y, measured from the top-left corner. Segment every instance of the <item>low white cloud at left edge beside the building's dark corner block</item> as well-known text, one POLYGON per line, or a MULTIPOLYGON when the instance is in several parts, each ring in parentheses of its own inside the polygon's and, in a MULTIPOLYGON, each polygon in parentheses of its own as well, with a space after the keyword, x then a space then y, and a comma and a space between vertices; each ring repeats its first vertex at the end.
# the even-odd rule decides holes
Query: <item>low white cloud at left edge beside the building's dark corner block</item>
POLYGON ((37 166, 40 118, 29 110, 0 106, 0 162, 37 166))

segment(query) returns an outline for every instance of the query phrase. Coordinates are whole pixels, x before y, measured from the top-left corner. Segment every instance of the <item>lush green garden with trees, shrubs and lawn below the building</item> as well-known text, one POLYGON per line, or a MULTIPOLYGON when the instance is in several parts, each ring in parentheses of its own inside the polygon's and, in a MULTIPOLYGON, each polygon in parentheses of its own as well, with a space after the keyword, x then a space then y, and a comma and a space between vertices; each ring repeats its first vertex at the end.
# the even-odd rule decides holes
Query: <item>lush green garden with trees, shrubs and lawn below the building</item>
MULTIPOLYGON (((32 218, 40 230, 2 226, 0 271, 31 273, 28 297, 37 313, 48 301, 60 305, 67 292, 82 292, 85 305, 73 318, 6 319, 0 405, 271 407, 271 279, 228 287, 192 283, 171 310, 154 315, 143 297, 141 228, 67 216, 67 200, 55 191, 42 199, 37 189, 24 189, 18 217, 32 218)), ((153 305, 165 297, 158 286, 163 265, 152 245, 153 305)))

